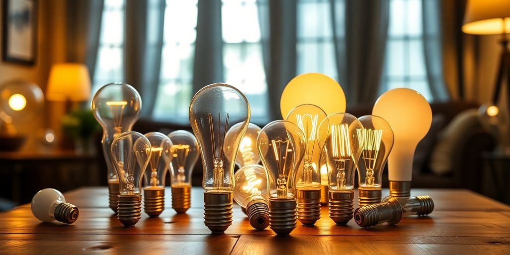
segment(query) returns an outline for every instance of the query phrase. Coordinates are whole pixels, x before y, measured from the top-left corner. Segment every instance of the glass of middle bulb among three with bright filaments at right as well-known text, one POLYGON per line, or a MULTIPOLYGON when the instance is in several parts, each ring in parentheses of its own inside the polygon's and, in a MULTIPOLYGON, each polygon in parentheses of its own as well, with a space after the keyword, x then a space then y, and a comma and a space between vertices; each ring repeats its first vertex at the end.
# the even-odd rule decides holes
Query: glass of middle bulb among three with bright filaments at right
POLYGON ((363 146, 356 132, 359 129, 363 125, 349 113, 331 114, 319 125, 318 140, 327 167, 329 190, 354 188, 354 174, 363 146))

